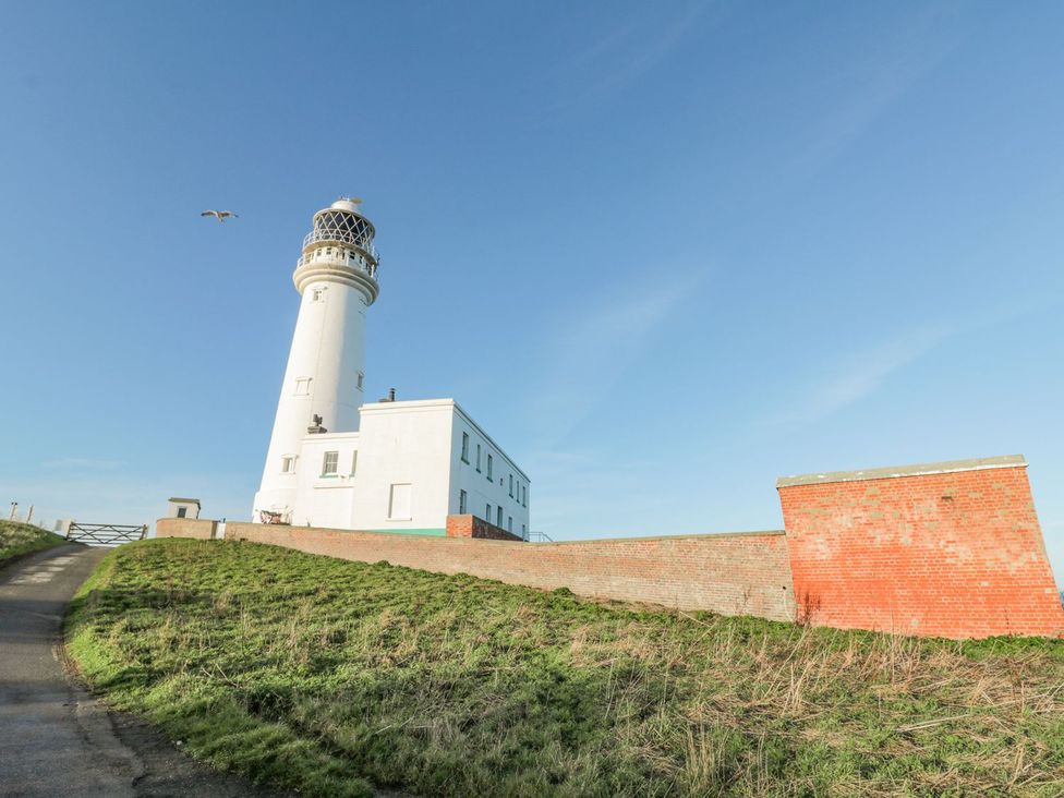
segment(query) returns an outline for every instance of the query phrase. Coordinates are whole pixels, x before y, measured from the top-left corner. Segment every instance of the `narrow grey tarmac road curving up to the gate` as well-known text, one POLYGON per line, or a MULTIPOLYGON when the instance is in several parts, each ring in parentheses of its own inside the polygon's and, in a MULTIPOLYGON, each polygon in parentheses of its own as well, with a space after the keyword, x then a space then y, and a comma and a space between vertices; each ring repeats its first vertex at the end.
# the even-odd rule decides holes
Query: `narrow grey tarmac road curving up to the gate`
POLYGON ((66 678, 63 613, 106 554, 60 546, 0 568, 0 796, 287 795, 198 764, 66 678))

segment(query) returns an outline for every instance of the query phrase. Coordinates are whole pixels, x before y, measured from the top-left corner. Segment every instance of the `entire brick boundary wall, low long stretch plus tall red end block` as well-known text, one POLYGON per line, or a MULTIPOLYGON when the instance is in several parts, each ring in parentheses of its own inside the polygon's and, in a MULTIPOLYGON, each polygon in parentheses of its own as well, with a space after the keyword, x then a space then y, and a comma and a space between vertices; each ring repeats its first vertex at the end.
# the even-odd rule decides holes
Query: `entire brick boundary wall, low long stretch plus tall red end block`
MULTIPOLYGON (((530 544, 472 517, 447 537, 230 521, 226 539, 597 598, 904 634, 1064 636, 1019 456, 785 476, 785 532, 530 544), (484 537, 481 537, 483 535, 484 537)), ((161 519, 158 536, 215 522, 161 519)))

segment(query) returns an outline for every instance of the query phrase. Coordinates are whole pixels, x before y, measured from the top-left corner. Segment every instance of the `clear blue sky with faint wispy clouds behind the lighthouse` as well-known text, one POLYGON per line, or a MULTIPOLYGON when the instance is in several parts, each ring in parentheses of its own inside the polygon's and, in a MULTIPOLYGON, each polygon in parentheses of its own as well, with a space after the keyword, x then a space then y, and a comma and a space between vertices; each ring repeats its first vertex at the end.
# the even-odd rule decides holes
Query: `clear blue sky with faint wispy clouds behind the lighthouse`
POLYGON ((0 503, 247 517, 300 242, 356 194, 367 395, 456 397, 533 528, 779 528, 781 474, 1024 454, 1060 581, 1062 24, 7 3, 0 503))

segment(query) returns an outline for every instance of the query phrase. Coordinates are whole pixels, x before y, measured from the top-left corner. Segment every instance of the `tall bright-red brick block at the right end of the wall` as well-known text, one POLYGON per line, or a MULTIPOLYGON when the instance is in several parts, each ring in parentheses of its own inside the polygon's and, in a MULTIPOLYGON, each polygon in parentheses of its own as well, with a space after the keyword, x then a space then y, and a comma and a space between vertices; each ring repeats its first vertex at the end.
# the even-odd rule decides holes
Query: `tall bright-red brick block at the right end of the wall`
POLYGON ((958 639, 1064 633, 1021 460, 952 473, 784 482, 799 617, 958 639))

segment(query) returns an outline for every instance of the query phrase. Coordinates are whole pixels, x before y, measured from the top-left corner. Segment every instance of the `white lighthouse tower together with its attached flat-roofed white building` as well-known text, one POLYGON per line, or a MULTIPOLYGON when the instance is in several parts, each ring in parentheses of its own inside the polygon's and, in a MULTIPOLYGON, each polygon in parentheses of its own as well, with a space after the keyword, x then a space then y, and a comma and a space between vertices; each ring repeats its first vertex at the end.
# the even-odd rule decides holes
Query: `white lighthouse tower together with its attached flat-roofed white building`
POLYGON ((529 479, 454 399, 364 403, 366 311, 379 292, 359 200, 314 215, 293 280, 299 318, 254 520, 446 534, 472 515, 529 530, 529 479))

